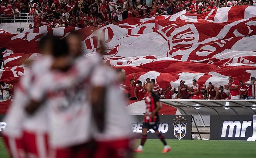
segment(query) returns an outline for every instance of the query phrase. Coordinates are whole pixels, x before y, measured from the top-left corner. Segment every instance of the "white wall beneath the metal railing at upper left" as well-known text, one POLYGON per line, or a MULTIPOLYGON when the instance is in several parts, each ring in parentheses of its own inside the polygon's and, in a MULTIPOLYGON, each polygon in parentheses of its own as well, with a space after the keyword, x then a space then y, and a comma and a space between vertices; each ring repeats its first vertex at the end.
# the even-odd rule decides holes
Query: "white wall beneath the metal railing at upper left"
POLYGON ((0 29, 3 29, 9 33, 19 33, 17 32, 17 28, 23 27, 26 31, 28 29, 29 24, 34 26, 34 22, 12 22, 12 23, 1 23, 0 29))

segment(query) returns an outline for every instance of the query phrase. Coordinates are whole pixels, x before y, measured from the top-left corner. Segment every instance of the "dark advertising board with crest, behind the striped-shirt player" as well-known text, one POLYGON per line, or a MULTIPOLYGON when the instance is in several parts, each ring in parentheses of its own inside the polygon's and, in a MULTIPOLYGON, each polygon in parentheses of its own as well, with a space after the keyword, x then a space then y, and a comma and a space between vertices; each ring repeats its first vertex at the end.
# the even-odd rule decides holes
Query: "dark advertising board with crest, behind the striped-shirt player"
MULTIPOLYGON (((142 120, 144 115, 134 115, 138 122, 132 122, 134 133, 138 133, 138 138, 142 133, 142 120)), ((158 130, 163 133, 165 139, 191 139, 191 115, 160 115, 158 130)), ((154 129, 148 130, 149 139, 158 139, 154 129)))

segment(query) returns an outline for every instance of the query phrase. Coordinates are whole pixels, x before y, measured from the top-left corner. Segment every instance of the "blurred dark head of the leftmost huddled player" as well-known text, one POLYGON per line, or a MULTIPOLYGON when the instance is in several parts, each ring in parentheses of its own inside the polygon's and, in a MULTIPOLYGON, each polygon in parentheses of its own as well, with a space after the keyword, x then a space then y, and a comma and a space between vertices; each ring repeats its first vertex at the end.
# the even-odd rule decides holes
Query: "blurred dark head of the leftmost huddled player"
POLYGON ((39 43, 39 53, 44 55, 52 54, 53 49, 53 37, 43 36, 39 43))

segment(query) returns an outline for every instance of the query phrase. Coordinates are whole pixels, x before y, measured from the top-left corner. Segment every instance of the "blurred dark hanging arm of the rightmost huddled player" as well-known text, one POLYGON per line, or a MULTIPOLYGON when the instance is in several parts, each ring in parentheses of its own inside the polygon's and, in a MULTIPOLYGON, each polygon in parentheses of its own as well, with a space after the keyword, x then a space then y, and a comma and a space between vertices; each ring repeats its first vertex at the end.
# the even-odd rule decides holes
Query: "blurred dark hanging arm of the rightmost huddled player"
POLYGON ((99 132, 105 129, 105 86, 95 86, 91 90, 92 113, 99 132))

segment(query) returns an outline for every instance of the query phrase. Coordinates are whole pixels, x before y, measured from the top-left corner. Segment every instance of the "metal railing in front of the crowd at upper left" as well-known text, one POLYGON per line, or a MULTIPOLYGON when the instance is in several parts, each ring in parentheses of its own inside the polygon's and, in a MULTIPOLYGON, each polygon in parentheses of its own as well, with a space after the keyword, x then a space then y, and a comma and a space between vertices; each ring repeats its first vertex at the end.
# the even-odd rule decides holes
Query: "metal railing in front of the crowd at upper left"
POLYGON ((33 15, 29 13, 1 14, 1 23, 6 22, 34 22, 33 15))

